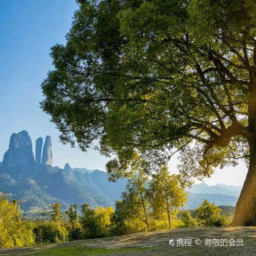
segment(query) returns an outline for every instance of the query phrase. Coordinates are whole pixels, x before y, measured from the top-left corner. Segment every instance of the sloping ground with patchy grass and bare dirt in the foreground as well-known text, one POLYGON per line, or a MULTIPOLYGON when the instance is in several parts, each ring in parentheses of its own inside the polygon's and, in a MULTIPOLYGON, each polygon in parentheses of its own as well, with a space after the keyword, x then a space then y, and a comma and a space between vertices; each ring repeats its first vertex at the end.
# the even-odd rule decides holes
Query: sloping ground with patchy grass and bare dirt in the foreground
POLYGON ((0 255, 256 255, 256 227, 172 229, 46 246, 0 255), (177 239, 180 243, 177 243, 177 239), (215 238, 215 240, 213 240, 215 238), (186 240, 185 240, 186 239, 186 240), (171 240, 171 242, 170 242, 171 240), (208 246, 205 242, 208 241, 208 246), (190 243, 191 242, 191 243, 190 243), (170 245, 171 243, 171 245, 170 245), (200 244, 201 243, 201 244, 200 244))

